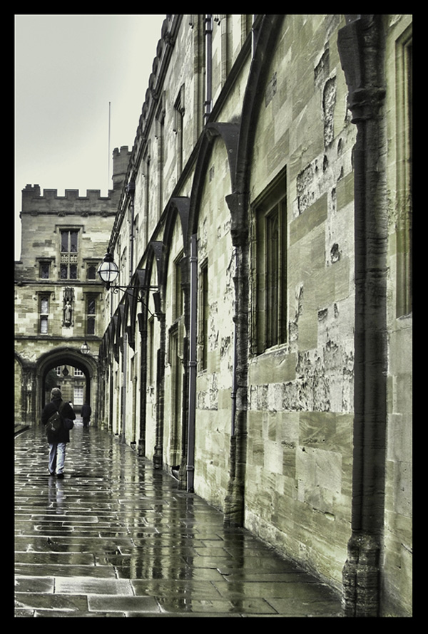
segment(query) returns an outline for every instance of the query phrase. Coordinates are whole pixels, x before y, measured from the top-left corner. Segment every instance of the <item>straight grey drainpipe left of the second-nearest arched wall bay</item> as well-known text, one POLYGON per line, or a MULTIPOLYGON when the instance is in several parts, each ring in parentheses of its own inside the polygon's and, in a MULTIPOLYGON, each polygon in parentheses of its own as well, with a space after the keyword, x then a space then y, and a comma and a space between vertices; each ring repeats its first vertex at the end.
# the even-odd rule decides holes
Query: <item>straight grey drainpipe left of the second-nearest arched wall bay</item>
POLYGON ((190 341, 189 341, 189 409, 187 489, 193 492, 195 474, 195 407, 196 407, 196 320, 198 300, 198 241, 193 234, 190 244, 190 341))

